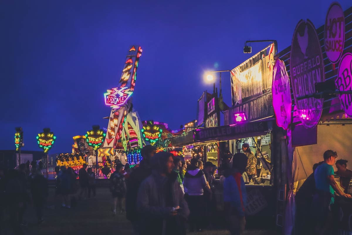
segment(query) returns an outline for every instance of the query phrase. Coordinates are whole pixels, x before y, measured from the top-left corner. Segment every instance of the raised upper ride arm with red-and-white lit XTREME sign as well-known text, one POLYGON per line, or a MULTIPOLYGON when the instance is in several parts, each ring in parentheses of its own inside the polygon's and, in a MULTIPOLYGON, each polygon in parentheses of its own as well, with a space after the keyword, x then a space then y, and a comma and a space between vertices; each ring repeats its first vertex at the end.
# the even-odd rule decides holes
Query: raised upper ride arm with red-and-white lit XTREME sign
POLYGON ((138 45, 133 45, 128 51, 124 69, 117 87, 107 90, 104 93, 105 105, 118 108, 126 104, 131 97, 136 85, 137 67, 142 49, 138 45))

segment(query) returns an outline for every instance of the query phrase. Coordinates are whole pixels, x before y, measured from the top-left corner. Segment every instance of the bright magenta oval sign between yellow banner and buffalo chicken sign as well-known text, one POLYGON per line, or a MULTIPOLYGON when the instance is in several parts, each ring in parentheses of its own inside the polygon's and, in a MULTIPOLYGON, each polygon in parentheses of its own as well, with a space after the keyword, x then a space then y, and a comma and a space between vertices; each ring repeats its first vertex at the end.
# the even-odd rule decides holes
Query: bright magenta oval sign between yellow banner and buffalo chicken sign
POLYGON ((290 78, 282 60, 276 60, 272 76, 272 106, 276 115, 276 123, 287 130, 291 123, 292 99, 290 78))

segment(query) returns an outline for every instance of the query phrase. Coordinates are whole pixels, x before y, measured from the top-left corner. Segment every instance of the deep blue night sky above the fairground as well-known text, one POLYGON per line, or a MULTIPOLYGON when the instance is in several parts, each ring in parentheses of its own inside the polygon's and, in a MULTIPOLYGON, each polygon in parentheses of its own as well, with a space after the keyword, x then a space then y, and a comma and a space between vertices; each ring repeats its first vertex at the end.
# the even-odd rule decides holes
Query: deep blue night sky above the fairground
MULTIPOLYGON (((70 152, 72 137, 94 124, 106 128, 103 93, 117 85, 132 44, 143 49, 134 109, 177 129, 212 92, 204 71, 232 69, 269 44, 243 54, 246 40, 276 39, 283 50, 300 19, 325 23, 332 0, 147 2, 1 1, 0 149, 14 149, 15 126, 23 150, 40 150, 35 137, 49 127, 57 136, 49 154, 70 152)), ((231 105, 230 73, 222 90, 231 105)))

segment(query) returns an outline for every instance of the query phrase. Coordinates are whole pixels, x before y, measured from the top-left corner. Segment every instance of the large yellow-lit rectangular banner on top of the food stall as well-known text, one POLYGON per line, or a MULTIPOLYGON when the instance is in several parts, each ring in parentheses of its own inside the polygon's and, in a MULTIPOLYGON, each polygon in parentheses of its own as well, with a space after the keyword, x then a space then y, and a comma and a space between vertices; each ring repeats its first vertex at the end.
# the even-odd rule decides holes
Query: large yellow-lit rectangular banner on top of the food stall
POLYGON ((274 43, 231 70, 232 106, 269 92, 274 66, 274 43))

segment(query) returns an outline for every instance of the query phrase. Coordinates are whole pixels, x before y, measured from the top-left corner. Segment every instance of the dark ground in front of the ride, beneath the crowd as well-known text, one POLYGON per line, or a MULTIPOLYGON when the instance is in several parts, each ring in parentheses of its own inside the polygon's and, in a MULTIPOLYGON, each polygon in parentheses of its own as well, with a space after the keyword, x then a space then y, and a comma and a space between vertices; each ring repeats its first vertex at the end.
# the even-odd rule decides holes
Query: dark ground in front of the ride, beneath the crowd
MULTIPOLYGON (((35 217, 33 206, 29 205, 25 214, 25 221, 28 226, 25 227, 26 235, 77 235, 77 234, 123 234, 132 235, 132 227, 127 221, 125 215, 117 215, 112 217, 111 212, 111 193, 108 188, 97 188, 96 199, 87 199, 86 201, 79 201, 77 206, 73 209, 49 209, 44 210, 45 222, 37 225, 37 218, 35 217)), ((50 188, 48 205, 54 204, 54 188, 50 188)), ((4 235, 12 235, 9 228, 9 221, 7 212, 5 218, 1 222, 2 228, 5 231, 4 235)), ((196 234, 196 233, 188 233, 196 234)), ((207 230, 201 235, 229 235, 226 230, 207 230)), ((245 235, 266 235, 274 234, 267 230, 251 230, 248 229, 245 235)))

